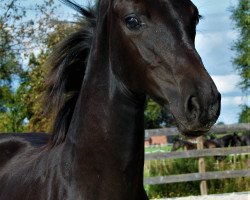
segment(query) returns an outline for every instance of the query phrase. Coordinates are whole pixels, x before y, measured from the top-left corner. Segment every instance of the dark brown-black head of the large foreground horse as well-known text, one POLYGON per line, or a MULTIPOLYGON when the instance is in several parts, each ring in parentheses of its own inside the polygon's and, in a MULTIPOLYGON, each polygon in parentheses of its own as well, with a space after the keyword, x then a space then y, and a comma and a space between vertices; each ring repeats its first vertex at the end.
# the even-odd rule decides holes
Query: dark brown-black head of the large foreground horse
POLYGON ((194 4, 112 0, 108 8, 116 79, 135 96, 148 94, 168 106, 184 135, 208 131, 219 116, 221 95, 195 49, 200 15, 194 4))

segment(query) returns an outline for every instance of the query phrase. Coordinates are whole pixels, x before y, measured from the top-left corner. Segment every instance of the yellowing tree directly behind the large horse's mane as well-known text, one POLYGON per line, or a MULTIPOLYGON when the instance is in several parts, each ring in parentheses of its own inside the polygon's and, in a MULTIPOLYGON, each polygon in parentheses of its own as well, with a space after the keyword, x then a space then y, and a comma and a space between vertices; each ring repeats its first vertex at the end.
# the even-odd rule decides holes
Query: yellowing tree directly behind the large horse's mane
POLYGON ((70 23, 58 23, 53 32, 49 33, 44 40, 44 49, 35 56, 31 54, 29 59, 29 73, 26 88, 26 105, 28 105, 28 130, 29 131, 45 131, 51 129, 53 123, 53 113, 50 116, 45 115, 43 105, 43 94, 45 91, 46 77, 49 73, 49 66, 46 66, 53 48, 75 30, 77 25, 70 23))

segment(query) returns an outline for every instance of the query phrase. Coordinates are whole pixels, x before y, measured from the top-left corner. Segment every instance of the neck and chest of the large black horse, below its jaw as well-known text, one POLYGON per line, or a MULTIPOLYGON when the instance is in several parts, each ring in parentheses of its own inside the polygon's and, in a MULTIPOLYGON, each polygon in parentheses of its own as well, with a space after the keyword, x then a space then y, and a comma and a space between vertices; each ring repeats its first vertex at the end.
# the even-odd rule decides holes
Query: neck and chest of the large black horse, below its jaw
POLYGON ((80 191, 93 189, 87 199, 107 191, 113 196, 103 199, 141 198, 145 97, 137 99, 125 89, 104 52, 97 48, 89 58, 65 148, 74 152, 73 171, 84 185, 80 191))

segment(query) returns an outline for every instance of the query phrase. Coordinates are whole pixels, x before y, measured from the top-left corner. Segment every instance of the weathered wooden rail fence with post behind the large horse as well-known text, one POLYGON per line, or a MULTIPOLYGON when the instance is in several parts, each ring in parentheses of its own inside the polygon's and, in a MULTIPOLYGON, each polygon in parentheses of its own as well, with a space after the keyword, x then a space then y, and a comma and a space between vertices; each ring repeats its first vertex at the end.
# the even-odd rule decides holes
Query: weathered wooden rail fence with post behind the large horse
MULTIPOLYGON (((250 124, 234 124, 234 125, 217 125, 214 126, 210 132, 220 134, 226 132, 239 132, 249 131, 250 124)), ((176 128, 165 128, 146 130, 146 137, 153 135, 178 135, 176 128)), ((250 177, 250 169, 244 170, 228 170, 228 171, 216 171, 206 172, 204 157, 207 156, 226 156, 230 154, 250 154, 250 146, 244 147, 230 147, 230 148, 213 148, 203 149, 203 139, 199 137, 197 139, 198 150, 190 150, 183 152, 169 152, 169 153, 151 153, 145 155, 145 160, 158 160, 168 158, 198 158, 199 159, 199 172, 181 175, 170 175, 170 176, 158 176, 145 178, 144 184, 155 185, 155 184, 167 184, 167 183, 178 183, 188 181, 201 181, 200 190, 202 195, 206 195, 207 192, 207 180, 212 179, 224 179, 224 178, 237 178, 237 177, 250 177)))

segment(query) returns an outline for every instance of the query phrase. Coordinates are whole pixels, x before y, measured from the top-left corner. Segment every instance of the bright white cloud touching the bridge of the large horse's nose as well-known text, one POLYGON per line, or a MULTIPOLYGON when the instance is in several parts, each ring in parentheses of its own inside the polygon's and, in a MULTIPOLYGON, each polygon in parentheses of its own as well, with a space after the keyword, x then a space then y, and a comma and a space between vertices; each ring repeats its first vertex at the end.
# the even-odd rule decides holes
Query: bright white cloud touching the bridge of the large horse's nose
POLYGON ((237 84, 240 82, 240 76, 235 74, 229 74, 224 76, 212 76, 218 90, 225 94, 230 92, 237 92, 237 84))

